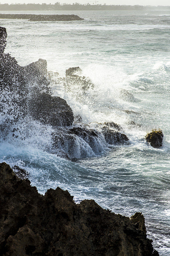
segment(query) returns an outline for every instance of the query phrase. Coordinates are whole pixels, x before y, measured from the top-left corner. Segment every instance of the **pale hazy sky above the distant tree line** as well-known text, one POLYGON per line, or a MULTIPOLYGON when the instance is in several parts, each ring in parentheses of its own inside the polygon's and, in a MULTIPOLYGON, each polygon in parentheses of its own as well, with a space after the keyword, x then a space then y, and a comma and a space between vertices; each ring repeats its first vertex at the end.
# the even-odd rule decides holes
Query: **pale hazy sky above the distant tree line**
MULTIPOLYGON (((72 4, 72 3, 81 3, 81 4, 93 4, 95 1, 86 1, 86 0, 0 0, 1 4, 11 4, 11 3, 51 3, 54 4, 56 2, 60 2, 61 4, 67 3, 67 4, 72 4)), ((170 5, 169 0, 100 0, 98 1, 98 4, 130 4, 130 5, 170 5)))

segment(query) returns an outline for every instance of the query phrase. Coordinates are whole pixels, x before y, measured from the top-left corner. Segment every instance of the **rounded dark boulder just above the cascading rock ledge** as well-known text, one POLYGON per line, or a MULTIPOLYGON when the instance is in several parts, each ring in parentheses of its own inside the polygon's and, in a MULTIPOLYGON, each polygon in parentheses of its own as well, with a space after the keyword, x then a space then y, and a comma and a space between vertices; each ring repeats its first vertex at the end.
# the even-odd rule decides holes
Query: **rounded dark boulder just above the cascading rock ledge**
POLYGON ((54 126, 70 126, 73 111, 66 100, 51 96, 45 92, 28 101, 29 114, 36 120, 54 126))

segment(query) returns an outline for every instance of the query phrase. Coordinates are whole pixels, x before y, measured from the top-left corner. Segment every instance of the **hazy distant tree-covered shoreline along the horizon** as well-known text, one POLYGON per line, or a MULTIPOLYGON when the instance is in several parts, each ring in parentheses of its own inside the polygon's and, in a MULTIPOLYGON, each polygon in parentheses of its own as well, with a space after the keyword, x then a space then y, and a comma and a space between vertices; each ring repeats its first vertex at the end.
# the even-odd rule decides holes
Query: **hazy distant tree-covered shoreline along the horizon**
POLYGON ((0 4, 0 11, 81 11, 81 10, 94 10, 94 11, 144 11, 144 10, 170 10, 170 6, 142 6, 142 5, 107 5, 107 4, 0 4))

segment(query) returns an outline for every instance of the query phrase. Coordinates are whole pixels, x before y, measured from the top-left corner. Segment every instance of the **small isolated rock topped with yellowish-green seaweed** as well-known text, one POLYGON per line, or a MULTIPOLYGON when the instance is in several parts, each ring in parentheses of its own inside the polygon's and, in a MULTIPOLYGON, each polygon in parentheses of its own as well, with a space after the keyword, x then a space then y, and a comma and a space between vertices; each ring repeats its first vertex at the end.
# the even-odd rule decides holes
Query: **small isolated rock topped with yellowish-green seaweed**
POLYGON ((152 132, 148 132, 145 136, 145 140, 150 143, 153 148, 162 147, 163 141, 163 132, 162 130, 152 130, 152 132))

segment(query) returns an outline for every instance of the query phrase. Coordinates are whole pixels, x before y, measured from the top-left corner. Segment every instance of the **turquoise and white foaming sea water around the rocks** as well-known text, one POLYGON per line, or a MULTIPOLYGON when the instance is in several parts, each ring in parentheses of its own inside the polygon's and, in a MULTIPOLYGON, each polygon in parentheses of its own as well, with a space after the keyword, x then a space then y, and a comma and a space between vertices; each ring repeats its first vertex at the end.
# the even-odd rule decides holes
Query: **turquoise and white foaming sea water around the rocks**
POLYGON ((61 76, 67 68, 82 68, 93 90, 84 95, 75 85, 68 93, 62 83, 54 83, 53 94, 67 100, 91 127, 94 122, 121 124, 130 144, 108 147, 100 141, 100 152, 83 145, 88 157, 72 163, 46 151, 52 127, 25 120, 18 124, 25 140, 2 136, 1 162, 24 166, 42 194, 59 186, 76 202, 93 198, 115 213, 142 212, 155 249, 170 255, 170 11, 48 13, 77 14, 85 20, 0 20, 8 33, 6 52, 20 65, 46 59, 48 70, 61 76), (123 99, 122 89, 136 100, 123 99), (160 149, 144 140, 154 128, 164 133, 160 149))

